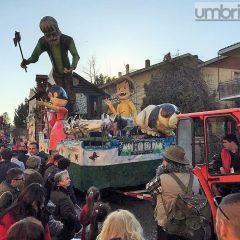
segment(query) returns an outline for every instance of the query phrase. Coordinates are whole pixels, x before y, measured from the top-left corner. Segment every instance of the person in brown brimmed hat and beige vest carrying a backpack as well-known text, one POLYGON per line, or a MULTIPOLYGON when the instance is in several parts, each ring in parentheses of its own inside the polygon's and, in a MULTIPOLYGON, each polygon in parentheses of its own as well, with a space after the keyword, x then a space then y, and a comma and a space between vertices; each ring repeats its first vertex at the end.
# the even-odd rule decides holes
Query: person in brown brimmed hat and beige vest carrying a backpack
MULTIPOLYGON (((155 220, 157 221, 158 239, 176 239, 175 236, 168 235, 165 232, 167 223, 167 214, 173 209, 176 198, 183 191, 170 173, 174 173, 187 187, 190 180, 191 165, 186 158, 184 149, 178 145, 170 146, 163 153, 163 162, 157 168, 157 176, 160 176, 161 194, 157 195, 157 204, 155 209, 155 220), (163 203, 164 201, 164 203, 163 203), (165 210, 166 207, 166 210, 165 210)), ((199 191, 197 178, 194 179, 193 191, 199 191)), ((179 239, 179 238, 177 238, 179 239)))

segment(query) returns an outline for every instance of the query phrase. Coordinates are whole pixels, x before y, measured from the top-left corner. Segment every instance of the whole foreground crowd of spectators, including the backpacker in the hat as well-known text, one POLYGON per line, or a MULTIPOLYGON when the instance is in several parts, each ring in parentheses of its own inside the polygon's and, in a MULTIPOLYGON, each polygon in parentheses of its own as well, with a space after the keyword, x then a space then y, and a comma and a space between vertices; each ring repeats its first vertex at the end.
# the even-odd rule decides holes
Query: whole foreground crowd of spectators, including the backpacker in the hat
MULTIPOLYGON (((85 204, 79 207, 68 173, 70 160, 57 150, 47 155, 32 142, 27 152, 1 146, 0 156, 0 240, 144 240, 143 228, 136 217, 123 209, 111 212, 97 187, 88 189, 85 204)), ((214 226, 207 217, 203 221, 204 214, 194 227, 196 218, 190 221, 193 238, 186 238, 188 228, 186 233, 179 230, 179 234, 169 228, 169 218, 174 226, 177 215, 176 199, 187 194, 184 188, 190 186, 191 194, 196 195, 201 191, 183 148, 173 145, 163 153, 156 178, 158 192, 153 197, 157 239, 210 239, 209 229, 214 226)), ((206 206, 204 211, 211 216, 206 206)), ((218 205, 215 226, 218 239, 240 238, 239 207, 239 193, 224 197, 218 205)))

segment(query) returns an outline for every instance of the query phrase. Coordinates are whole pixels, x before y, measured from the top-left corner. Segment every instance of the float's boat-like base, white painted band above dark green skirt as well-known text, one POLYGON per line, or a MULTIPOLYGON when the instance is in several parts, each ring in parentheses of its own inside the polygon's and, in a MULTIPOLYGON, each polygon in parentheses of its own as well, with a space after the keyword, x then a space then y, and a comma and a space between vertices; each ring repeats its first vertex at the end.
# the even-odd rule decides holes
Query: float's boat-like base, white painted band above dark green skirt
MULTIPOLYGON (((71 160, 69 172, 75 187, 87 190, 92 185, 109 188, 145 184, 161 163, 162 151, 171 144, 175 144, 175 137, 92 138, 64 140, 57 148, 61 155, 71 160)), ((48 149, 48 140, 42 135, 40 149, 48 149)))

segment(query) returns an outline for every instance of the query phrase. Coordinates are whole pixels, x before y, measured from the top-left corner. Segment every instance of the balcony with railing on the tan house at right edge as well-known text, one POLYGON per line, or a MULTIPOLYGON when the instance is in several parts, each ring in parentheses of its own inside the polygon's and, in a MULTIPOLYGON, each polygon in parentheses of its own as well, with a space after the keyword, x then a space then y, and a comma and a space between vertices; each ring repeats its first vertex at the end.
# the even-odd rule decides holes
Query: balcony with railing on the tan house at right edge
POLYGON ((220 82, 218 85, 220 100, 239 100, 240 99, 240 78, 220 82))

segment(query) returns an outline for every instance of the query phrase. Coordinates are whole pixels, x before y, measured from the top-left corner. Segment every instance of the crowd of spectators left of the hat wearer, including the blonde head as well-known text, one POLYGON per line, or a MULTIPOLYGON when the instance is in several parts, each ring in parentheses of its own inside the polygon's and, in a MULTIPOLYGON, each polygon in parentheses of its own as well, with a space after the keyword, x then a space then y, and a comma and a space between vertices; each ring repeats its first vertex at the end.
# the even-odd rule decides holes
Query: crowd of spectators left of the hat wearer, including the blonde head
POLYGON ((143 229, 127 210, 111 212, 97 187, 78 206, 68 167, 70 160, 51 151, 27 152, 1 146, 0 240, 143 240, 143 229))

